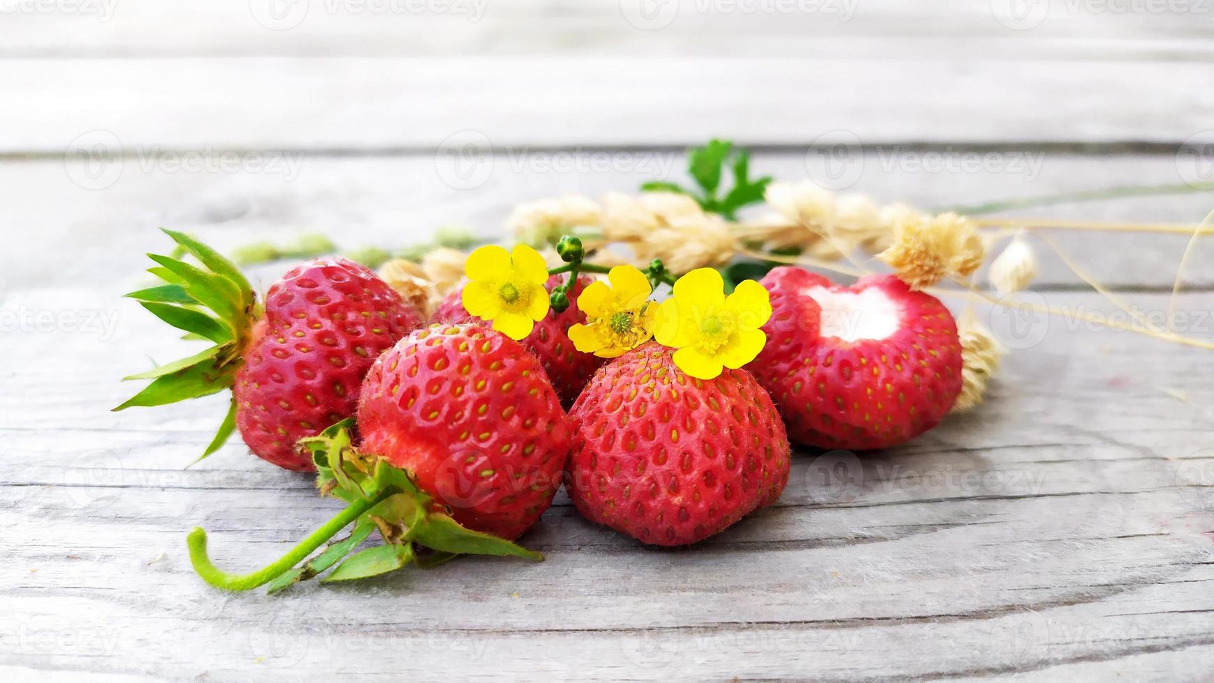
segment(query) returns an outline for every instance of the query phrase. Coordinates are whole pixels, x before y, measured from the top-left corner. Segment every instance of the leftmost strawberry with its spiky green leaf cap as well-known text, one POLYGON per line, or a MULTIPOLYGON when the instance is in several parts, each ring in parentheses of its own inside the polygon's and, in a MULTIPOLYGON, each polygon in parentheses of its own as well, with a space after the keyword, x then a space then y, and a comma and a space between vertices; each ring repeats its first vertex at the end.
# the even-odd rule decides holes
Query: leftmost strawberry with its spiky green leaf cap
POLYGON ((296 442, 353 415, 363 375, 384 349, 421 324, 421 314, 367 268, 334 257, 283 275, 261 312, 236 266, 187 235, 165 232, 208 269, 152 255, 160 264, 152 272, 166 284, 129 296, 215 346, 129 377, 154 381, 115 410, 231 387, 228 416, 203 457, 239 428, 257 457, 312 469, 296 442))

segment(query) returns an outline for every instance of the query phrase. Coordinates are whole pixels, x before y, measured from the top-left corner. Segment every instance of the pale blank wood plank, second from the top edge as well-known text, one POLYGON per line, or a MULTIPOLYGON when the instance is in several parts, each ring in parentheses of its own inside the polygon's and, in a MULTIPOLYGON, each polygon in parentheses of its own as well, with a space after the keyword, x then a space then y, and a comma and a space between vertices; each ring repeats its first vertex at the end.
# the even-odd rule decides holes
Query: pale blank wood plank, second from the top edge
POLYGON ((839 57, 13 58, 0 153, 59 154, 96 130, 130 149, 435 149, 460 131, 495 146, 809 143, 840 130, 869 144, 1178 143, 1209 127, 1208 72, 969 56, 875 69, 839 57))

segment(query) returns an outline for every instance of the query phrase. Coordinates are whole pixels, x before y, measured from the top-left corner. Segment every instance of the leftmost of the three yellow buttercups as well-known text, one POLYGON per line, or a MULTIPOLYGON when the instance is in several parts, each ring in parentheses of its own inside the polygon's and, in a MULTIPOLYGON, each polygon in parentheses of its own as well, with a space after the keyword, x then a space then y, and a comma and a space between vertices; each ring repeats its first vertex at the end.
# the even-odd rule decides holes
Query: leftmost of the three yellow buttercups
POLYGON ((548 264, 534 249, 520 244, 510 252, 482 246, 469 255, 464 273, 469 279, 464 308, 493 320, 493 329, 507 337, 526 338, 535 321, 548 315, 548 264))

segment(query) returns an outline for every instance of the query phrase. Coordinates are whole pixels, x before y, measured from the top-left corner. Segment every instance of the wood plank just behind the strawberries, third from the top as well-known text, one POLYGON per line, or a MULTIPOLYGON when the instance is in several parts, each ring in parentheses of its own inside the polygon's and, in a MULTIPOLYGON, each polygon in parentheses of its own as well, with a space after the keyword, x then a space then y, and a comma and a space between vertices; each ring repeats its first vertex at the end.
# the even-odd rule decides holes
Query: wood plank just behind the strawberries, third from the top
MULTIPOLYGON (((554 150, 524 146, 499 155, 473 156, 472 184, 455 180, 450 158, 432 154, 346 158, 243 153, 228 167, 220 165, 219 153, 206 159, 157 149, 144 154, 95 166, 96 181, 85 175, 86 166, 78 160, 0 163, 0 224, 17 230, 16 241, 0 254, 0 278, 12 286, 89 281, 117 295, 137 288, 135 277, 147 267, 146 251, 165 247, 158 224, 194 232, 221 249, 260 239, 285 241, 299 230, 328 233, 346 249, 368 244, 398 247, 422 241, 444 224, 500 237, 511 209, 527 200, 569 192, 601 197, 611 190, 632 192, 641 182, 658 177, 685 180, 683 152, 677 148, 554 150), (197 170, 188 166, 192 163, 198 164, 197 170)), ((817 152, 761 152, 751 166, 782 180, 824 180, 821 159, 817 152)), ((1187 155, 961 146, 890 147, 847 154, 843 160, 844 175, 838 177, 852 182, 843 190, 924 207, 1111 186, 1182 183, 1198 169, 1187 155)), ((1210 209, 1210 197, 1118 199, 1010 215, 1197 224, 1210 209)), ((1182 234, 1056 232, 1050 237, 1108 286, 1168 291, 1189 241, 1182 234)), ((1208 238, 1197 243, 1186 284, 1214 285, 1214 274, 1201 267, 1214 257, 1212 245, 1208 238)), ((1083 286, 1046 245, 1038 244, 1037 251, 1037 286, 1083 286)), ((282 267, 259 272, 262 286, 280 272, 282 267)), ((104 312, 117 314, 115 306, 117 298, 104 312)), ((138 312, 134 306, 126 309, 138 312)))

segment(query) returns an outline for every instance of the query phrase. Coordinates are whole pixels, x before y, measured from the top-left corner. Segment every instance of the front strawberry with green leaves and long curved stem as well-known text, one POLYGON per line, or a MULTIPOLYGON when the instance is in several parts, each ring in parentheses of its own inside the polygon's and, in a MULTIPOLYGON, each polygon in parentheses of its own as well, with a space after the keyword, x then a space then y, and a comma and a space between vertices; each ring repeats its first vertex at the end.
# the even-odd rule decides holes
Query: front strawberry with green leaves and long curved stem
POLYGON ((518 342, 476 324, 413 332, 367 374, 357 448, 351 427, 339 423, 304 442, 322 493, 350 506, 279 560, 245 575, 215 568, 206 533, 194 529, 191 560, 206 582, 285 588, 325 571, 375 529, 384 545, 350 557, 323 581, 430 565, 455 553, 541 559, 510 541, 551 505, 571 428, 539 362, 518 342), (348 537, 304 562, 351 524, 348 537))

